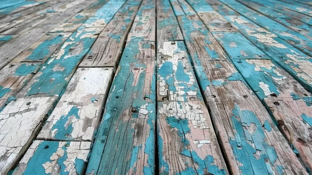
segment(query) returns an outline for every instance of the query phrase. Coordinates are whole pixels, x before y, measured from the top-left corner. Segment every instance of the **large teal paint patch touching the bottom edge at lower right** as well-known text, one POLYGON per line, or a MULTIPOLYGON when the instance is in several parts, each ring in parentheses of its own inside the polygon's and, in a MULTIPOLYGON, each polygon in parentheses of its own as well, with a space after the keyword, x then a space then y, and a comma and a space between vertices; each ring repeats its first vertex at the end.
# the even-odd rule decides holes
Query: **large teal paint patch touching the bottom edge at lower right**
POLYGON ((241 110, 238 105, 235 105, 232 112, 231 120, 236 133, 235 138, 230 139, 230 144, 236 160, 242 164, 240 166, 241 173, 268 174, 272 168, 267 166, 270 164, 278 166, 275 165, 277 154, 275 149, 266 142, 266 134, 262 129, 262 124, 253 112, 241 110), (251 125, 254 126, 253 132, 243 127, 250 127, 251 125), (256 150, 261 154, 260 158, 255 157, 256 150), (266 161, 270 161, 270 164, 266 164, 266 161))

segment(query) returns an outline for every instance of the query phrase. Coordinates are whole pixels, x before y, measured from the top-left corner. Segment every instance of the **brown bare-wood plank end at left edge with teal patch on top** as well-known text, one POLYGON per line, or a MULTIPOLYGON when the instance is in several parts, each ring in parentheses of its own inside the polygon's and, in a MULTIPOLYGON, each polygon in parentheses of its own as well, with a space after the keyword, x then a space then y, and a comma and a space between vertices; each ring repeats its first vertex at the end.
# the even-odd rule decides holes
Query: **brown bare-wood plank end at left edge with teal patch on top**
POLYGON ((0 111, 38 71, 36 62, 11 63, 0 71, 0 111))

